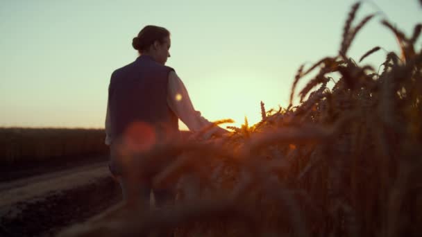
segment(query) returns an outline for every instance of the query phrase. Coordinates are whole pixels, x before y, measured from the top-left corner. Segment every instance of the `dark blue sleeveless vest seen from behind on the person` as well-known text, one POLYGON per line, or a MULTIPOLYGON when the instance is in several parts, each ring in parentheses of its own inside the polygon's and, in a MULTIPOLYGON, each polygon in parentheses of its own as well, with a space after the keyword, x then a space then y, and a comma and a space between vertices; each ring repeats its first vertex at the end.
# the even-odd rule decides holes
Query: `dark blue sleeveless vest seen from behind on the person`
POLYGON ((153 129, 157 142, 179 136, 178 117, 167 105, 170 71, 174 69, 141 55, 112 73, 108 88, 112 142, 129 128, 142 137, 145 125, 153 129))

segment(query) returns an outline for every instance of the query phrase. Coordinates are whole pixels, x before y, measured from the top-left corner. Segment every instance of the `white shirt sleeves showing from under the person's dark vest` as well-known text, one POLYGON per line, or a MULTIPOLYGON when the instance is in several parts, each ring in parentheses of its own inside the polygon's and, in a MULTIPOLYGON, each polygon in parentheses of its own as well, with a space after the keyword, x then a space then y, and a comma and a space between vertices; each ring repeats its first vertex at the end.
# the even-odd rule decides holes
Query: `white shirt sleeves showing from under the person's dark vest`
MULTIPOLYGON (((187 125, 189 130, 197 132, 205 126, 210 125, 211 122, 201 116, 201 112, 194 109, 189 94, 187 94, 187 89, 175 71, 170 71, 167 87, 167 105, 187 125)), ((111 144, 110 125, 110 111, 107 104, 107 114, 105 115, 105 144, 108 146, 111 144)))

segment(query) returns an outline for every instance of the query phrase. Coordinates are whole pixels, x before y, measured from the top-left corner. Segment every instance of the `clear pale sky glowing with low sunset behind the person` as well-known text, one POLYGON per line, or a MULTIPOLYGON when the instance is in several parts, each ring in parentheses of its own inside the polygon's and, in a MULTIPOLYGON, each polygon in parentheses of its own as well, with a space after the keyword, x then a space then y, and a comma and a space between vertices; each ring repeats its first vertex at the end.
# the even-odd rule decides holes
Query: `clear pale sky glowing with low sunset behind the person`
MULTIPOLYGON (((196 110, 210 121, 240 125, 247 116, 256 123, 261 100, 267 109, 287 106, 302 63, 337 55, 353 3, 1 0, 0 126, 103 128, 110 75, 135 60, 132 39, 148 24, 171 32, 167 65, 196 110)), ((374 46, 398 50, 381 19, 407 35, 422 21, 417 0, 373 0, 364 1, 355 24, 379 10, 353 42, 352 58, 374 46)), ((385 55, 362 63, 378 67, 385 55)))

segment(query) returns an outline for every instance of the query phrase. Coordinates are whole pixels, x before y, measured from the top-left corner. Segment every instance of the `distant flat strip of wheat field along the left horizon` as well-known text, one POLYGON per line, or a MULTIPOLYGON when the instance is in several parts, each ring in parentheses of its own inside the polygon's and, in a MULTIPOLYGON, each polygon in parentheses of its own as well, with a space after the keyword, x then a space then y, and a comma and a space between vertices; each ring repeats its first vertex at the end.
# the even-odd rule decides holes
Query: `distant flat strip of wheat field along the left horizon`
POLYGON ((0 128, 0 134, 0 164, 5 166, 109 152, 101 129, 0 128))

